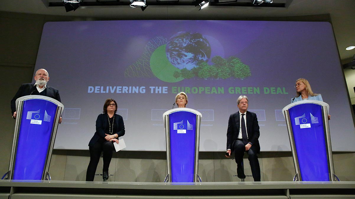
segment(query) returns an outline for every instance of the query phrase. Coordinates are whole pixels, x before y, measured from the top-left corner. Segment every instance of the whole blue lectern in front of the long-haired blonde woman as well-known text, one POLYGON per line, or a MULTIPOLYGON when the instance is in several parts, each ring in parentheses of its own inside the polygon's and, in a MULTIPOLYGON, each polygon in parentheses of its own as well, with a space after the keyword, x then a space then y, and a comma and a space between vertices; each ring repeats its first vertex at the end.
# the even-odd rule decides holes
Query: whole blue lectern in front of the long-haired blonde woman
POLYGON ((316 100, 297 101, 282 109, 296 170, 294 181, 335 181, 328 110, 327 103, 316 100))

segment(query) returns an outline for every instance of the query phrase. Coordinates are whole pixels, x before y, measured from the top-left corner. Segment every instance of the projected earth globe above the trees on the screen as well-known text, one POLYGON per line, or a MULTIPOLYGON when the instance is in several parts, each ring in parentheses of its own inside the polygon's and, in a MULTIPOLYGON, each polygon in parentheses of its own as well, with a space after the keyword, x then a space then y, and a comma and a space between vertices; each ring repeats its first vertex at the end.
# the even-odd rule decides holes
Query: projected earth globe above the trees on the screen
POLYGON ((209 60, 211 45, 200 33, 178 32, 166 44, 165 52, 173 66, 191 70, 199 61, 209 60))

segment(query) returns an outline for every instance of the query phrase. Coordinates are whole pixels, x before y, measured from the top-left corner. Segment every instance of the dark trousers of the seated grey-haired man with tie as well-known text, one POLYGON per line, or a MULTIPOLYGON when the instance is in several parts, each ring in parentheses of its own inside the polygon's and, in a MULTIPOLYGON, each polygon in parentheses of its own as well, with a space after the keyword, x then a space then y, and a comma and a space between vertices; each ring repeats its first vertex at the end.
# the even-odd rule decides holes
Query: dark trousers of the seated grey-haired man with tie
POLYGON ((234 149, 234 157, 235 157, 235 162, 237 163, 237 166, 242 166, 242 161, 244 157, 244 152, 247 152, 249 157, 249 164, 251 168, 251 173, 253 175, 254 181, 260 181, 260 165, 258 161, 258 155, 256 153, 256 146, 252 145, 248 151, 245 151, 245 145, 243 141, 241 140, 236 140, 233 145, 234 149))

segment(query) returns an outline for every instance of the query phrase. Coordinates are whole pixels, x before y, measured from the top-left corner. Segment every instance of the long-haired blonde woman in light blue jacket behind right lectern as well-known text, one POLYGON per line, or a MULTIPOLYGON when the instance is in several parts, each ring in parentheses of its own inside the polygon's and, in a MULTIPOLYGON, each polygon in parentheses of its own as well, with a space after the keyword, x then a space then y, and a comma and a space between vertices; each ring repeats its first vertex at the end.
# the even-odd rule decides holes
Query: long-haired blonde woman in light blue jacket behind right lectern
MULTIPOLYGON (((296 96, 291 99, 291 103, 302 100, 318 100, 323 101, 321 94, 315 94, 312 92, 311 85, 307 79, 300 78, 296 80, 296 96)), ((328 115, 328 120, 331 119, 331 115, 328 115)))

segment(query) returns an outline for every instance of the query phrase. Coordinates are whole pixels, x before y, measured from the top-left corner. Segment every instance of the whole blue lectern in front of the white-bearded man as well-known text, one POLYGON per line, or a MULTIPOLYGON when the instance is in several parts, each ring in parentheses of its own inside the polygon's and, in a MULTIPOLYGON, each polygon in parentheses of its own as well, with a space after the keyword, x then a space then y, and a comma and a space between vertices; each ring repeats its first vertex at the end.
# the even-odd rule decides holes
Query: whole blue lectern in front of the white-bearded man
POLYGON ((42 95, 16 100, 15 133, 6 179, 50 180, 49 164, 63 109, 59 101, 42 95))

